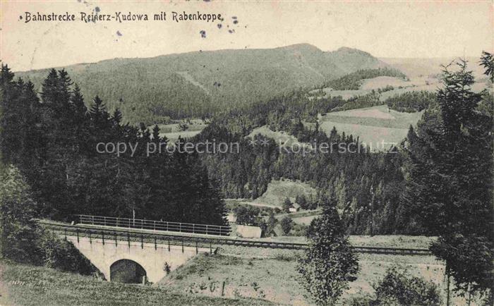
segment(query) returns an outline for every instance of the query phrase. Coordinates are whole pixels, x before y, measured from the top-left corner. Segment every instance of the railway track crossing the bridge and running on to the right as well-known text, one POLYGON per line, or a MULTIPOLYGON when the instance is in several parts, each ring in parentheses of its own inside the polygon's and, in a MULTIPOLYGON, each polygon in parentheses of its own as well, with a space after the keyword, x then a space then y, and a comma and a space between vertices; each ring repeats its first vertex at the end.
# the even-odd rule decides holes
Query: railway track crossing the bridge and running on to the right
MULTIPOLYGON (((222 235, 205 235, 196 233, 179 233, 172 231, 153 231, 139 228, 122 228, 114 226, 92 226, 88 224, 63 224, 54 221, 37 220, 38 224, 48 230, 80 238, 89 238, 90 241, 99 240, 103 243, 154 243, 157 245, 183 245, 194 247, 210 247, 217 245, 236 245, 243 247, 266 247, 272 249, 304 250, 307 243, 282 243, 265 240, 246 240, 231 238, 222 235)), ((386 255, 432 255, 427 249, 411 249, 399 247, 367 247, 352 246, 355 252, 386 255)))

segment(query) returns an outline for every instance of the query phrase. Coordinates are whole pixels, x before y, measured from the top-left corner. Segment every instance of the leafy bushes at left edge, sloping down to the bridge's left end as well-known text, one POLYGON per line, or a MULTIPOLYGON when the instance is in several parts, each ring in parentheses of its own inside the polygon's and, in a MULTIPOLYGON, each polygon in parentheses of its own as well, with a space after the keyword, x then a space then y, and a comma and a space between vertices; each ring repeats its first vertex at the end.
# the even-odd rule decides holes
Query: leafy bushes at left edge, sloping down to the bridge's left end
POLYGON ((34 221, 36 203, 13 166, 0 168, 0 258, 91 275, 97 269, 68 241, 43 231, 34 221))

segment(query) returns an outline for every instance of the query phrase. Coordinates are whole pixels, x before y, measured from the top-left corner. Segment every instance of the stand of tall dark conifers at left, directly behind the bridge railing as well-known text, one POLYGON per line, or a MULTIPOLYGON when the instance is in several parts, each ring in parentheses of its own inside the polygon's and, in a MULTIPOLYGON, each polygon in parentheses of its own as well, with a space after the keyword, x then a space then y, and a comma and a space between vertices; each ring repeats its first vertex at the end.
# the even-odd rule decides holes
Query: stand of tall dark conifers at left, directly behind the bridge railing
POLYGON ((66 71, 52 70, 40 98, 31 82, 14 80, 2 66, 1 159, 13 164, 32 189, 37 216, 70 220, 72 214, 225 224, 222 195, 197 157, 176 150, 147 157, 147 142, 167 142, 121 124, 100 97, 90 109, 66 71), (99 154, 98 143, 138 144, 119 157, 99 154))

